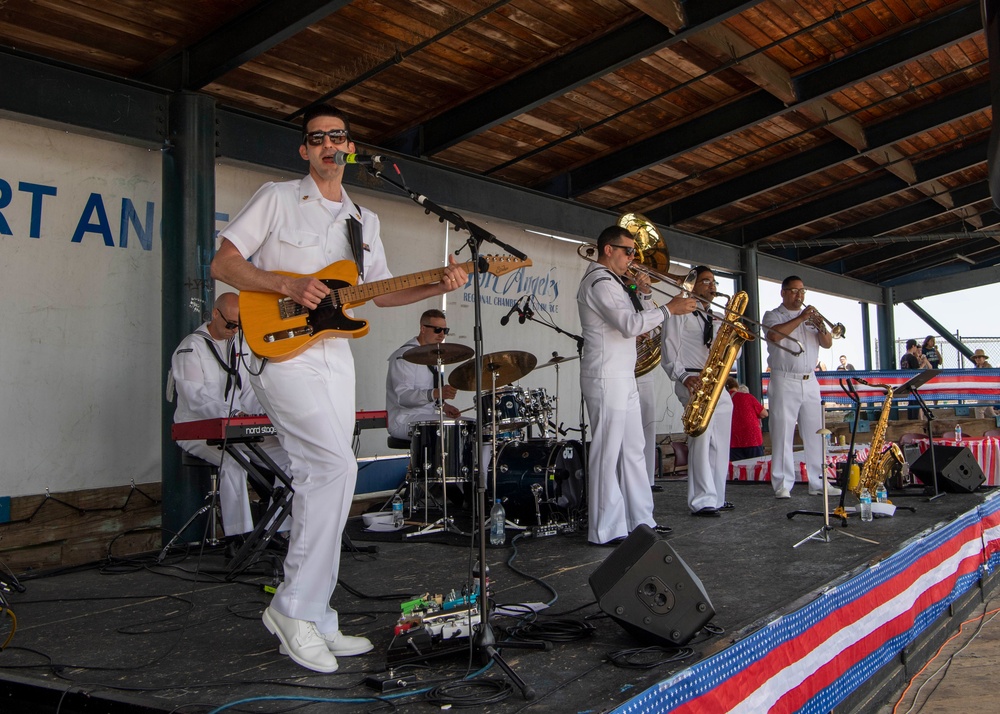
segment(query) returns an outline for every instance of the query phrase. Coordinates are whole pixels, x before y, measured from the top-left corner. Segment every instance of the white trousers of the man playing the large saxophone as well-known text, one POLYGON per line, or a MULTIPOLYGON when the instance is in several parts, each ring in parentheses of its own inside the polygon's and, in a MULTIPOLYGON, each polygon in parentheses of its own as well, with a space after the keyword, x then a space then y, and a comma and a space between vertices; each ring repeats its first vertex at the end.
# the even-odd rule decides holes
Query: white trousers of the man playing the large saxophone
POLYGON ((726 502, 732 423, 733 398, 723 389, 708 428, 688 438, 688 507, 692 513, 722 508, 726 502))

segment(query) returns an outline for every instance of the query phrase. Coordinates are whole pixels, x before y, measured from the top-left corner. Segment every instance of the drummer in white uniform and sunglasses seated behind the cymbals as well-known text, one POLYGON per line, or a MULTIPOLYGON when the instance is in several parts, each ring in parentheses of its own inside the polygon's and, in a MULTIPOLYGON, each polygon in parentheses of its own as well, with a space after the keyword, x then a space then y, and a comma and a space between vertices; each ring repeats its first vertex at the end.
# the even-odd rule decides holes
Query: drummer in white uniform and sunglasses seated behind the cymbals
MULTIPOLYGON (((434 421, 438 418, 438 400, 453 399, 457 390, 449 384, 437 384, 435 365, 414 364, 403 359, 403 353, 415 347, 444 342, 448 336, 448 321, 441 310, 427 310, 420 316, 420 331, 389 356, 389 371, 385 378, 385 410, 388 413, 389 435, 408 439, 410 424, 434 421)), ((444 416, 455 418, 461 412, 445 401, 444 416)))

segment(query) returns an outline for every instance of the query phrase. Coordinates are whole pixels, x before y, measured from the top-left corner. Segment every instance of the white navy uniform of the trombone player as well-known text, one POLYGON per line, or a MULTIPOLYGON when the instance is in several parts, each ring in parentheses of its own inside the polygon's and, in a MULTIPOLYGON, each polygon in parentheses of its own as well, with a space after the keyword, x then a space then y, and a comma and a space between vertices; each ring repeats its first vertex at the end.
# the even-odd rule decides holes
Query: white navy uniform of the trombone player
MULTIPOLYGON (((652 299, 652 296, 641 296, 652 299)), ((618 276, 587 267, 576 296, 583 331, 580 390, 590 417, 587 488, 591 543, 654 527, 635 382, 635 338, 663 322, 666 306, 637 312, 618 276)))

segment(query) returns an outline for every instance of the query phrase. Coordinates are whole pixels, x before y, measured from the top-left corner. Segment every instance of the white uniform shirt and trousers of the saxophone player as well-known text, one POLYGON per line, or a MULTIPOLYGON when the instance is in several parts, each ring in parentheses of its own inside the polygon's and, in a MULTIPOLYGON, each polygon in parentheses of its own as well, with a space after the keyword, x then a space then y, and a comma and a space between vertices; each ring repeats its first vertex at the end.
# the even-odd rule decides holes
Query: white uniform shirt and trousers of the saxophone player
MULTIPOLYGON (((697 376, 708 361, 705 320, 696 313, 678 315, 663 328, 663 359, 660 364, 674 381, 674 393, 687 406, 690 393, 684 380, 697 376)), ((688 507, 692 513, 702 508, 722 508, 726 502, 729 475, 729 441, 733 422, 733 399, 729 391, 715 406, 708 428, 699 436, 688 437, 688 507)))

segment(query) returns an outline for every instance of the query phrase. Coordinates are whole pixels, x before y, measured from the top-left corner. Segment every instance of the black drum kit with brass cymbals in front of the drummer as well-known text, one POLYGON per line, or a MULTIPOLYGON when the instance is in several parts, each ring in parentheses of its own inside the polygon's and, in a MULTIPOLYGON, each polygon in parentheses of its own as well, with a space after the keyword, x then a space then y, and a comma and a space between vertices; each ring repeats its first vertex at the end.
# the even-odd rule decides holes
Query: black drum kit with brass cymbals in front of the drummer
MULTIPOLYGON (((459 391, 476 392, 476 361, 473 350, 460 344, 439 343, 414 347, 402 358, 436 369, 436 384, 444 384, 444 365, 462 362, 448 378, 459 391)), ((563 362, 578 357, 560 357, 537 365, 529 352, 493 352, 482 357, 483 393, 479 397, 483 415, 484 444, 480 463, 489 462, 488 497, 499 498, 507 511, 508 525, 545 525, 583 507, 586 500, 586 459, 579 441, 560 441, 558 370, 563 362), (514 386, 535 369, 556 368, 556 394, 544 388, 514 386), (484 439, 485 441, 485 439, 484 439), (489 450, 487 453, 487 449, 489 450)), ((441 530, 461 532, 448 518, 448 484, 452 488, 474 487, 473 456, 476 423, 468 418, 446 418, 443 405, 436 421, 410 425, 410 470, 408 478, 422 480, 424 493, 430 484, 442 488, 443 517, 411 535, 441 530)), ((471 490, 468 493, 471 494, 471 490)), ((426 504, 426 499, 425 499, 426 504)), ((425 505, 425 523, 426 505, 425 505)))

